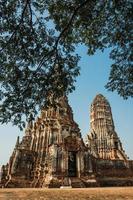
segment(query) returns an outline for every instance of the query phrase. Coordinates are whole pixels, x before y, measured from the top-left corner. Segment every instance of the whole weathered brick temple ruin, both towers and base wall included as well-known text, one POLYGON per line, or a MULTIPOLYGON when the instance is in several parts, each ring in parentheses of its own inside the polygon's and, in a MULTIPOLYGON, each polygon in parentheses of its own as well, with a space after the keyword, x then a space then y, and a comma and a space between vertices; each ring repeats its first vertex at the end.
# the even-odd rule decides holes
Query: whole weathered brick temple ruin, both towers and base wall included
POLYGON ((68 99, 43 109, 17 138, 9 163, 2 166, 1 187, 96 187, 133 185, 133 161, 115 132, 111 107, 99 94, 90 111, 84 142, 68 99))

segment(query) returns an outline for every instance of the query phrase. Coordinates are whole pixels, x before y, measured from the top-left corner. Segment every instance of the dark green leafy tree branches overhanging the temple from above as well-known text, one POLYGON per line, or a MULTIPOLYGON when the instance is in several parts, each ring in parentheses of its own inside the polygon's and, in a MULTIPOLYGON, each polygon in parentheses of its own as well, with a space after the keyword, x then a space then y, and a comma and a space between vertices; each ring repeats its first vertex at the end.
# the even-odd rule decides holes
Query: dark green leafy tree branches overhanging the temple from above
POLYGON ((88 55, 111 47, 106 87, 133 97, 132 7, 131 0, 1 0, 0 122, 23 127, 23 115, 36 115, 47 97, 72 92, 78 44, 88 55))

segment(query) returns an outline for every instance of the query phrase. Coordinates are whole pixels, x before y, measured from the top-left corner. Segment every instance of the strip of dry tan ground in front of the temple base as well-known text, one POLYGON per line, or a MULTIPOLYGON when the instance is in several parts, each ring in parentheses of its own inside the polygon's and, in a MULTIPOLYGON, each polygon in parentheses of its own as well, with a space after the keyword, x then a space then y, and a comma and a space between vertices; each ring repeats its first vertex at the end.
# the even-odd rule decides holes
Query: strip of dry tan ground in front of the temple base
POLYGON ((0 200, 133 200, 133 187, 0 189, 0 200))

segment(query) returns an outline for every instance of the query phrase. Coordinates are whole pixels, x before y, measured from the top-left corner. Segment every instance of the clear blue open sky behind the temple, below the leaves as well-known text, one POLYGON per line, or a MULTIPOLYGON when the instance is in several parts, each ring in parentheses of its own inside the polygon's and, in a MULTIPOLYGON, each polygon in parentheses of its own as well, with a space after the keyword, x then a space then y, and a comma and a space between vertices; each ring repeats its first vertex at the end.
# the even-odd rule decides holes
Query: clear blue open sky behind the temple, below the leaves
MULTIPOLYGON (((133 100, 123 100, 116 92, 107 91, 104 86, 108 81, 111 60, 109 50, 88 56, 85 47, 78 48, 81 61, 81 75, 77 78, 76 90, 69 95, 69 103, 73 109, 74 119, 79 124, 82 136, 89 133, 90 104, 96 94, 103 94, 112 108, 115 130, 120 137, 123 148, 130 159, 133 159, 133 100)), ((20 131, 11 124, 0 125, 0 166, 8 162, 20 131)))

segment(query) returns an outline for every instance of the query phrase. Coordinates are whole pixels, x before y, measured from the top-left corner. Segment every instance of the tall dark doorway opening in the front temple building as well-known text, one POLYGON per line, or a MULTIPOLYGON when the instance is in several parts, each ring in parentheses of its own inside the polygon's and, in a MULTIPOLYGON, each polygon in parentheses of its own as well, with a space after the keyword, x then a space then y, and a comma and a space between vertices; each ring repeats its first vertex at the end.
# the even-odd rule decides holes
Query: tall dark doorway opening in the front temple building
POLYGON ((76 170, 76 152, 69 151, 68 152, 68 176, 75 177, 77 175, 76 170))

